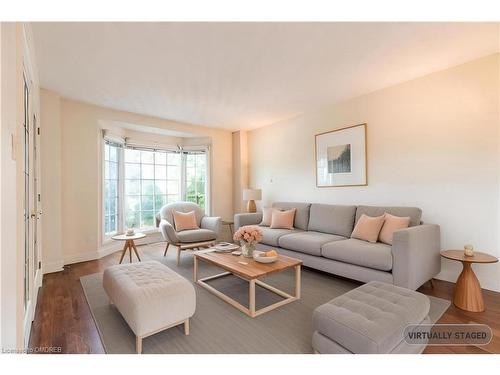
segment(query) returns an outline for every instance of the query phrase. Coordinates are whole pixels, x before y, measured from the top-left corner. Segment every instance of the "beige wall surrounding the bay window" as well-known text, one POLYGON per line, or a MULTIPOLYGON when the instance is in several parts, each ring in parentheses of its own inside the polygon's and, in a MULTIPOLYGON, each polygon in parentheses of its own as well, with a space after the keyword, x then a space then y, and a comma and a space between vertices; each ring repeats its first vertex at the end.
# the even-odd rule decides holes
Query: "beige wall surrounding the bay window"
MULTIPOLYGON (((54 121, 43 122, 46 127, 60 127, 61 137, 47 140, 46 147, 61 148, 60 212, 45 215, 45 220, 61 220, 59 236, 54 233, 53 241, 59 242, 65 264, 95 259, 120 247, 112 243, 110 248, 101 246, 100 194, 101 194, 101 128, 110 122, 125 122, 150 128, 187 132, 211 140, 211 211, 213 215, 232 217, 232 138, 231 132, 174 121, 137 115, 88 105, 66 98, 60 98, 60 123, 57 124, 57 105, 47 105, 57 94, 42 90, 42 116, 54 121), (104 125, 103 125, 104 124, 104 125)), ((48 138, 48 137, 47 137, 48 138)), ((156 139, 159 137, 156 136, 156 139)), ((188 142, 189 143, 189 142, 188 142)), ((46 168, 57 163, 57 152, 52 159, 45 159, 46 168)), ((54 168, 57 169, 57 164, 54 168)), ((46 190, 59 183, 57 172, 49 172, 46 190)), ((53 194, 56 198, 56 194, 53 194)), ((44 233, 45 235, 45 233, 44 233)), ((44 259, 45 260, 45 259, 44 259)), ((47 271, 48 272, 48 271, 47 271)))

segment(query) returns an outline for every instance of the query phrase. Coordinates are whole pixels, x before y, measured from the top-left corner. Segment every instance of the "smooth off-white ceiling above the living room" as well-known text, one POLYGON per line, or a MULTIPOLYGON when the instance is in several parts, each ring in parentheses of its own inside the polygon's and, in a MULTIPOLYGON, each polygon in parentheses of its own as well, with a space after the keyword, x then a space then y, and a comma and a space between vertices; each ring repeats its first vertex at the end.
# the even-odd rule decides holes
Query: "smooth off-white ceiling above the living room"
POLYGON ((32 23, 41 86, 226 129, 499 51, 496 23, 32 23))

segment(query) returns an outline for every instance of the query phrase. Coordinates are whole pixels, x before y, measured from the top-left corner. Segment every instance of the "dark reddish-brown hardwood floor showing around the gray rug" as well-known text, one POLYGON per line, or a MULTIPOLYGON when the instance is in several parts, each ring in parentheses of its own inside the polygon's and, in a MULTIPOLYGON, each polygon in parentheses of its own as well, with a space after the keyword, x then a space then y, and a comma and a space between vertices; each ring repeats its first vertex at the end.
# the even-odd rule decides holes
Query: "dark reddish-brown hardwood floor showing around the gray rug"
MULTIPOLYGON (((44 276, 31 329, 30 348, 56 346, 62 348, 62 353, 104 353, 79 279, 117 264, 119 257, 120 252, 117 252, 99 260, 72 264, 62 272, 44 276)), ((434 288, 427 283, 419 291, 451 300, 453 286, 453 283, 434 280, 434 288)), ((424 353, 500 353, 500 293, 487 290, 483 293, 485 312, 470 313, 452 304, 438 323, 487 324, 494 335, 490 344, 482 347, 432 346, 424 353)))

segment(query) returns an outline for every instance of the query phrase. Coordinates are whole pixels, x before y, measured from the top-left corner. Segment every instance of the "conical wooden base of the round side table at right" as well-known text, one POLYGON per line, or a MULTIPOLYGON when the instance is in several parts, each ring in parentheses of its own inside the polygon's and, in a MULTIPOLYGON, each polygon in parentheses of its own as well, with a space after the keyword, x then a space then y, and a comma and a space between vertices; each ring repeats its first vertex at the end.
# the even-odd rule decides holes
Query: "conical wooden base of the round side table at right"
POLYGON ((471 312, 485 310, 481 285, 469 262, 462 262, 462 273, 455 284, 453 303, 459 309, 471 312))

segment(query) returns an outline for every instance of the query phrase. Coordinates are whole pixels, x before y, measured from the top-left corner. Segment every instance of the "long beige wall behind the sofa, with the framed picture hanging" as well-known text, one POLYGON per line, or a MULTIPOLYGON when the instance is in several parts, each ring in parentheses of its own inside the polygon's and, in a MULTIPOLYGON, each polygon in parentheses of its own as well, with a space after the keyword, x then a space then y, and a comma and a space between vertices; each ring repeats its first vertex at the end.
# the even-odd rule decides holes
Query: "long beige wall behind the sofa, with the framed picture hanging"
MULTIPOLYGON (((376 91, 249 133, 250 184, 277 200, 408 205, 443 248, 499 250, 499 56, 376 91), (367 123, 368 186, 317 188, 314 135, 367 123)), ((459 265, 443 261, 455 281, 459 265)), ((500 290, 500 266, 474 266, 500 290)))

